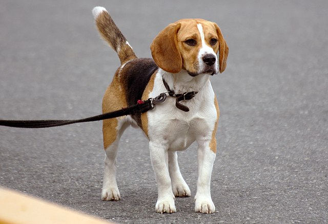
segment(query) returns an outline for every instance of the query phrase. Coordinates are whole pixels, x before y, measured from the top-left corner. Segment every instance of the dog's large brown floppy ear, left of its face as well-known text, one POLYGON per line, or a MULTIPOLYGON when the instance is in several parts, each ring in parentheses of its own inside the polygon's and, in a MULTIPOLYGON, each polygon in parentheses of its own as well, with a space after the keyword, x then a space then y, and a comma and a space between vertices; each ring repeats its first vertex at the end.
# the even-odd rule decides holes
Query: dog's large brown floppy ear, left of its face
POLYGON ((155 63, 166 72, 178 73, 182 69, 177 43, 179 29, 179 23, 170 24, 155 37, 150 46, 155 63))

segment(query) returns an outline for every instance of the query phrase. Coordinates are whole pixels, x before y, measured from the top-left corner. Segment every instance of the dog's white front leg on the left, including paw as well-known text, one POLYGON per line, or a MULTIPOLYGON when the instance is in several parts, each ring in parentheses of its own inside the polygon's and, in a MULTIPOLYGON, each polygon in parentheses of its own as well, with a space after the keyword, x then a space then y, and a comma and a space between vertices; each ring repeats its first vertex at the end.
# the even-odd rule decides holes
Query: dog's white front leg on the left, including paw
POLYGON ((150 159, 155 172, 158 198, 155 206, 157 213, 176 212, 174 194, 171 187, 171 179, 168 164, 168 148, 159 141, 149 143, 150 159))

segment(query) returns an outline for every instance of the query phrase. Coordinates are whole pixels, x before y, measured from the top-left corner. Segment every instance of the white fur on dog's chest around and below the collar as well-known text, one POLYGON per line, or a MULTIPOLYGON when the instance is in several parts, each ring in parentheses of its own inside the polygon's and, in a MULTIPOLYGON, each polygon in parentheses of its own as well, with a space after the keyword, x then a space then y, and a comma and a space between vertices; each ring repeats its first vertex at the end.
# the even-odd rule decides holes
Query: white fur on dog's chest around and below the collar
MULTIPOLYGON (((154 110, 148 112, 150 141, 165 145, 168 150, 177 151, 188 148, 194 141, 210 140, 217 120, 215 95, 209 75, 198 79, 192 89, 198 91, 198 94, 191 100, 181 101, 190 108, 190 111, 178 109, 175 106, 175 98, 168 96, 165 102, 157 104, 154 110)), ((183 88, 183 83, 181 86, 180 88, 183 88)), ((149 97, 155 97, 165 91, 162 74, 158 72, 149 97)))

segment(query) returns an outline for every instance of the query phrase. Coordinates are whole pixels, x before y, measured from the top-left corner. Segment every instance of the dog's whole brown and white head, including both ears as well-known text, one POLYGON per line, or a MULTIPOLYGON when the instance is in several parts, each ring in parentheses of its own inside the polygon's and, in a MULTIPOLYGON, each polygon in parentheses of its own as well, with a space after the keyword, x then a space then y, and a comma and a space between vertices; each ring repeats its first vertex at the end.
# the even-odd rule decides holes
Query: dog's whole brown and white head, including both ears
POLYGON ((191 76, 222 73, 229 52, 220 28, 204 19, 181 19, 170 24, 150 48, 159 68, 170 73, 183 69, 191 76))

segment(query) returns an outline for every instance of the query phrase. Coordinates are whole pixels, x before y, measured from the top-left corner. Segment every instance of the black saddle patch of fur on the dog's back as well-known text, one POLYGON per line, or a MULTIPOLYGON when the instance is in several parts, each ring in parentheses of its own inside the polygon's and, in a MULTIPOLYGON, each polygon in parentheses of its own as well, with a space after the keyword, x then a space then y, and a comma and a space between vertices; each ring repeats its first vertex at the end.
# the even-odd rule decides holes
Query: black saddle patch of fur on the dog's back
MULTIPOLYGON (((128 106, 137 104, 141 100, 145 88, 158 69, 155 61, 152 58, 137 58, 133 59, 124 66, 121 73, 124 74, 126 99, 128 106)), ((139 126, 141 126, 140 115, 132 116, 139 126)))

